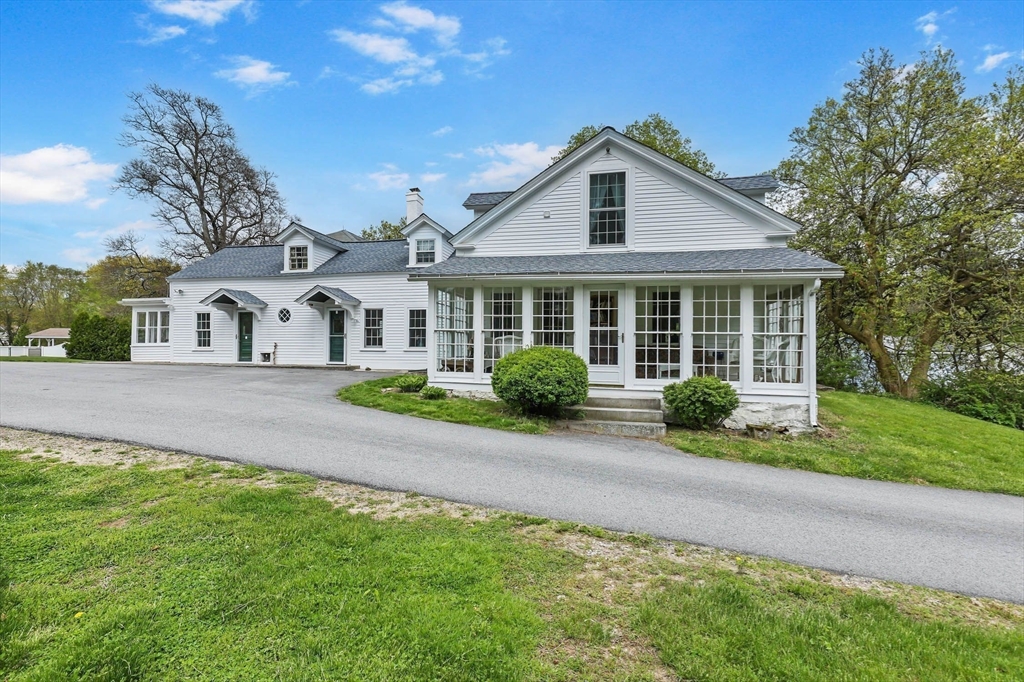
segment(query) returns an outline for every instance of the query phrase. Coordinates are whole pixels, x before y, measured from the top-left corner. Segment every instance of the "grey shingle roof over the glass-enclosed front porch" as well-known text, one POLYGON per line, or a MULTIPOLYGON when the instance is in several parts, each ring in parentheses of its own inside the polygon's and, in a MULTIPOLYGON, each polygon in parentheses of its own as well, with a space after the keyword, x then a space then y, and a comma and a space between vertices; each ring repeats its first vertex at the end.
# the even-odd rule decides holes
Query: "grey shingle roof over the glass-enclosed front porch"
POLYGON ((564 256, 455 256, 411 279, 502 274, 778 272, 842 274, 839 265, 785 248, 720 251, 580 253, 564 256))

